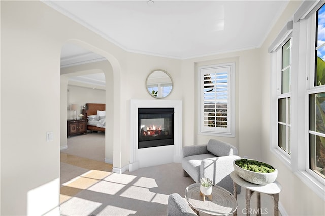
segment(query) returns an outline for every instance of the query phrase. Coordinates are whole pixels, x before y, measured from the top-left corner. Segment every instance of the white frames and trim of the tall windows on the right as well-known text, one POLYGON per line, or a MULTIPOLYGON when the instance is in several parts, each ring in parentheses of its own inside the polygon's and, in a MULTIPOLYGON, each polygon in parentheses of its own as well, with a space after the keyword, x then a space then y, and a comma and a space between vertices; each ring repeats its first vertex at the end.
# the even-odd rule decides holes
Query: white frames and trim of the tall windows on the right
MULTIPOLYGON (((271 152, 306 184, 322 200, 325 200, 325 179, 310 169, 309 164, 309 95, 325 92, 325 85, 314 86, 315 82, 315 40, 316 40, 316 11, 321 7, 319 3, 305 2, 302 8, 304 15, 294 16, 293 23, 293 49, 291 71, 291 157, 277 148, 277 92, 276 84, 276 49, 273 42, 269 52, 272 52, 272 115, 271 115, 271 152), (307 42, 307 43, 306 43, 307 42), (294 109, 295 107, 295 109, 294 109), (295 145, 293 145, 295 143, 295 145)), ((300 10, 300 9, 299 9, 300 10)), ((299 11, 298 10, 298 11, 299 11)), ((288 33, 287 31, 286 33, 288 33)), ((281 32, 282 33, 282 32, 281 32)), ((279 37, 278 37, 279 38, 279 37)), ((277 38, 277 39, 278 39, 277 38)), ((285 37, 284 37, 285 38, 285 37)), ((283 38, 282 38, 283 39, 283 38)), ((283 40, 284 41, 284 40, 283 40)), ((283 42, 282 41, 282 42, 283 42)))

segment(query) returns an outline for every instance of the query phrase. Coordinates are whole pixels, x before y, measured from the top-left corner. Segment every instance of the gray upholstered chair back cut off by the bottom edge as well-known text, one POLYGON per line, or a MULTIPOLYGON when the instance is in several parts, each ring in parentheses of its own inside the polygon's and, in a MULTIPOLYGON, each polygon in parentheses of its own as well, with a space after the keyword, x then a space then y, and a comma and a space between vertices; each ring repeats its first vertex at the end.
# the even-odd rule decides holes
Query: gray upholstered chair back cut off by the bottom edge
POLYGON ((168 216, 197 216, 197 214, 189 207, 188 202, 181 195, 174 193, 168 197, 168 216))

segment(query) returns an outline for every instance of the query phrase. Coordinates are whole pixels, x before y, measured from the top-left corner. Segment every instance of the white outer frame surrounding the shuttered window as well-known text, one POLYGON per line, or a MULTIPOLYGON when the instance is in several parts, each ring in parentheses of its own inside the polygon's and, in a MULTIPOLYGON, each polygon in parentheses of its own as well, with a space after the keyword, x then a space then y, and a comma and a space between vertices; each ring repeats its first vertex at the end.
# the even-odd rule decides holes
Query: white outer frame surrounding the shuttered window
POLYGON ((219 63, 213 65, 204 65, 198 67, 198 82, 199 82, 199 115, 198 115, 198 134, 199 135, 213 135, 213 136, 225 136, 235 137, 235 73, 236 62, 219 63), (218 69, 229 67, 228 73, 228 130, 224 128, 209 128, 206 130, 204 127, 204 70, 206 69, 218 69))

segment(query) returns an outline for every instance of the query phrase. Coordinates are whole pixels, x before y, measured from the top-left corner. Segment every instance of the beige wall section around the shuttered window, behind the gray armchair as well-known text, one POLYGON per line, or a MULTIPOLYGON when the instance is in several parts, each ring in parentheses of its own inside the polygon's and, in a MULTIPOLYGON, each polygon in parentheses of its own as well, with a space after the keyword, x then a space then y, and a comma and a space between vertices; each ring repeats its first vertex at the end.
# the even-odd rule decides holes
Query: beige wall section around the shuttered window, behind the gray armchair
POLYGON ((183 88, 189 90, 183 92, 183 141, 184 145, 196 145, 207 143, 210 138, 218 138, 232 143, 239 150, 240 156, 260 159, 261 133, 261 106, 259 102, 261 93, 261 73, 259 64, 259 49, 223 53, 208 57, 200 57, 184 60, 182 62, 183 78, 186 82, 183 88), (197 67, 219 63, 236 62, 236 128, 235 137, 216 137, 198 134, 198 96, 197 67), (188 86, 192 86, 188 89, 188 86), (194 95, 187 96, 187 95, 194 95), (253 104, 253 105, 252 105, 253 104), (187 133, 187 131, 190 131, 187 133))

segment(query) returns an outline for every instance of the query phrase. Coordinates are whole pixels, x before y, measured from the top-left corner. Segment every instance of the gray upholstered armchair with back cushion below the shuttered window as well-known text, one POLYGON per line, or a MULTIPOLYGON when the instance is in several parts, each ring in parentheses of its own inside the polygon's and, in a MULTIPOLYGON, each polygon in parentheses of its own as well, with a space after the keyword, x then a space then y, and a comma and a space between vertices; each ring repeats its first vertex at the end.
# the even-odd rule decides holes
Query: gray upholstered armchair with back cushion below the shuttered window
MULTIPOLYGON (((202 177, 209 178, 229 192, 234 192, 230 173, 234 171, 233 162, 240 158, 236 147, 216 139, 210 139, 207 145, 185 146, 182 149, 182 167, 184 176, 190 176, 195 182, 202 177)), ((241 187, 237 187, 239 194, 241 187)))

